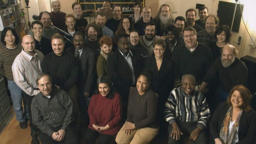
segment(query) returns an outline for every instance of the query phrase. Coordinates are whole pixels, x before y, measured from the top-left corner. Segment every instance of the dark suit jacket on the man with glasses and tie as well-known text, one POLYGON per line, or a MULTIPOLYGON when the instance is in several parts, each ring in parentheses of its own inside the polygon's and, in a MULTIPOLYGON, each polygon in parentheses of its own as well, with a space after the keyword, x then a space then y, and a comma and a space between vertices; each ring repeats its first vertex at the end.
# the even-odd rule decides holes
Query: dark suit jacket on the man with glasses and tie
MULTIPOLYGON (((70 47, 67 50, 68 52, 75 54, 75 47, 70 47)), ((90 48, 84 46, 82 54, 79 61, 79 85, 82 87, 84 92, 93 93, 92 89, 95 79, 96 79, 96 64, 95 64, 95 53, 90 48), (82 84, 82 85, 81 85, 82 84)))

